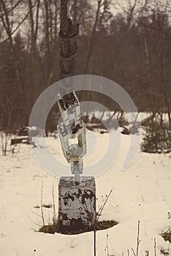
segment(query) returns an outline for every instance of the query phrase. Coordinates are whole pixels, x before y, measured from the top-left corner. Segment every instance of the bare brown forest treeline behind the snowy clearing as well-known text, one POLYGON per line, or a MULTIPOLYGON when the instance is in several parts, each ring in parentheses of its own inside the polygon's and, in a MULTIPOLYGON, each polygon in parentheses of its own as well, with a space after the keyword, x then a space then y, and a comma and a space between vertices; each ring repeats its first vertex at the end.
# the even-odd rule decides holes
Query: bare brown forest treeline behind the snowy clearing
MULTIPOLYGON (((164 0, 70 0, 69 16, 80 23, 75 75, 110 78, 138 110, 170 120, 170 15, 164 0)), ((35 100, 58 80, 59 24, 59 0, 0 0, 1 129, 28 125, 35 100)), ((119 108, 100 94, 78 95, 119 108)))

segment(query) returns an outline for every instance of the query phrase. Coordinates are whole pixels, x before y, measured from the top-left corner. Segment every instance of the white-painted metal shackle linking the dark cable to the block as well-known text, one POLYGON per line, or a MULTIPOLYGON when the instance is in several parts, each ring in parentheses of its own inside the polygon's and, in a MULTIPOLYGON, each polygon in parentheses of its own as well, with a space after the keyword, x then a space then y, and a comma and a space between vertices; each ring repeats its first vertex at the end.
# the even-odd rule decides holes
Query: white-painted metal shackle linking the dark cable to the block
POLYGON ((86 154, 86 126, 80 118, 80 103, 75 92, 73 95, 73 104, 66 108, 64 99, 58 94, 58 108, 63 121, 57 128, 64 157, 70 163, 75 182, 78 183, 83 173, 83 156, 86 154), (77 139, 77 143, 71 143, 73 139, 77 139))

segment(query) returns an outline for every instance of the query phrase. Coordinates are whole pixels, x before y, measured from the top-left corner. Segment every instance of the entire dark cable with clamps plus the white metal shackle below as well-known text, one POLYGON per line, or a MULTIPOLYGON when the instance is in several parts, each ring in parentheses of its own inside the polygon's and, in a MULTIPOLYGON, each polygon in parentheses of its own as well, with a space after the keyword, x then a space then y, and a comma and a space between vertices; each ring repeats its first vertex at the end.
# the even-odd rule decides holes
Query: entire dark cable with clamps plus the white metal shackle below
POLYGON ((59 79, 61 80, 60 89, 65 95, 61 97, 61 94, 58 94, 58 108, 62 121, 57 129, 64 157, 70 163, 71 172, 75 174, 77 184, 80 182, 80 174, 83 173, 83 156, 86 154, 86 126, 81 118, 77 95, 74 90, 69 92, 73 88, 72 78, 69 83, 64 78, 74 75, 74 55, 77 51, 75 37, 78 30, 78 24, 73 24, 72 20, 67 18, 67 0, 61 0, 61 30, 59 32, 61 73, 59 79), (73 139, 77 139, 77 143, 72 143, 73 139))

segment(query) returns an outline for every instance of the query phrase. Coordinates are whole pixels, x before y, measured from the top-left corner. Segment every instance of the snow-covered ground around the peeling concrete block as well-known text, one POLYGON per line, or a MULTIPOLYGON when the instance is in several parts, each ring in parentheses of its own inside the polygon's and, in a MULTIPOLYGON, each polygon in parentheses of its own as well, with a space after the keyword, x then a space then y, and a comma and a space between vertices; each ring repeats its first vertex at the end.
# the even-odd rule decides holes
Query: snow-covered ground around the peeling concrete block
MULTIPOLYGON (((107 134, 88 132, 88 164, 98 161, 106 150, 107 134), (96 138, 96 139, 94 139, 96 138)), ((118 223, 108 230, 97 232, 96 255, 129 255, 136 252, 137 223, 140 220, 139 255, 156 255, 161 250, 171 255, 171 246, 159 235, 171 226, 171 154, 145 154, 138 152, 132 165, 121 172, 130 136, 121 135, 121 152, 107 172, 96 178, 98 203, 113 189, 102 219, 118 223), (108 235, 108 236, 107 236, 108 235)), ((64 162, 58 139, 47 138, 50 150, 64 162)), ((41 210, 35 208, 42 201, 53 203, 55 189, 56 212, 58 211, 58 179, 50 176, 39 166, 31 151, 32 146, 18 145, 15 153, 6 157, 0 152, 0 255, 1 256, 66 256, 93 255, 94 234, 83 233, 66 236, 58 233, 39 233, 42 225, 41 210)), ((97 203, 97 204, 98 204, 97 203)), ((46 223, 52 223, 53 208, 43 208, 46 223)))

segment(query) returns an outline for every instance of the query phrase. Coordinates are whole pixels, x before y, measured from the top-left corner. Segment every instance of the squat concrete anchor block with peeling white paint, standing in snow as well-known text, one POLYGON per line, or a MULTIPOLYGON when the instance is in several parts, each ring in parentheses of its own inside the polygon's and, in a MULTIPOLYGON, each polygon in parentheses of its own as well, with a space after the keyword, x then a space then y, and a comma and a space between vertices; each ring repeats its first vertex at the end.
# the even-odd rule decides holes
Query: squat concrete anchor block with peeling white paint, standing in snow
POLYGON ((94 177, 61 177, 58 184, 58 232, 84 230, 91 227, 96 214, 94 177))

